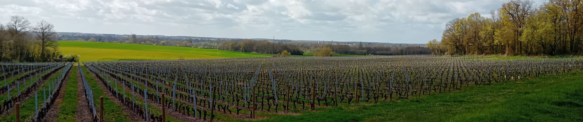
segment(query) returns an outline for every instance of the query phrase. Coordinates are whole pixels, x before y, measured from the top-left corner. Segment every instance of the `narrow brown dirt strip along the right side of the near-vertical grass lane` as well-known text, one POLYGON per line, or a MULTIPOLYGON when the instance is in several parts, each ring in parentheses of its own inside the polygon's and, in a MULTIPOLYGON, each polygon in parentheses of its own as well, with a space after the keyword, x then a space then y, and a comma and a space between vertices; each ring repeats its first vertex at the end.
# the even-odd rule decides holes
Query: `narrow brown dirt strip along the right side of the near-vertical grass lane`
POLYGON ((85 96, 85 87, 83 87, 83 82, 81 79, 81 75, 79 74, 83 71, 77 72, 77 87, 79 90, 77 91, 77 116, 75 119, 77 122, 92 122, 92 112, 89 110, 89 104, 87 104, 87 97, 85 96))

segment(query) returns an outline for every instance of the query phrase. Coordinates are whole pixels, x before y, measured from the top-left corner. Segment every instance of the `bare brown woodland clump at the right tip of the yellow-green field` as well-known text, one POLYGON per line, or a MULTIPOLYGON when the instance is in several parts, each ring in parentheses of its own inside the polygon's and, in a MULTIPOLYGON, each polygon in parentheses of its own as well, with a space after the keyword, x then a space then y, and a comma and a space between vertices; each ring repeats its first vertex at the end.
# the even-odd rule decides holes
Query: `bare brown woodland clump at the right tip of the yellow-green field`
POLYGON ((267 40, 243 39, 241 41, 226 40, 219 43, 219 50, 240 51, 245 53, 278 54, 283 50, 289 51, 291 55, 304 55, 299 47, 288 43, 273 43, 267 40))

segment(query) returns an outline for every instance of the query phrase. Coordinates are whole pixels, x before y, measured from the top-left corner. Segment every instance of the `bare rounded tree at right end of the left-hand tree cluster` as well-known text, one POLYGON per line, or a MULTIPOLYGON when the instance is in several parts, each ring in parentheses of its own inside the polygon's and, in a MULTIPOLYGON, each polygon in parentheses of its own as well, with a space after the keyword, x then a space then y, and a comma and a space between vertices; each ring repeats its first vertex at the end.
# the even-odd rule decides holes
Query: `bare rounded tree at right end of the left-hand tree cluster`
MULTIPOLYGON (((45 50, 47 50, 47 47, 52 47, 52 49, 56 49, 57 48, 57 42, 55 42, 55 30, 53 29, 54 26, 50 23, 48 23, 47 21, 40 21, 38 22, 38 24, 36 25, 36 27, 34 27, 34 33, 37 36, 37 39, 39 39, 41 41, 40 46, 41 46, 41 60, 43 61, 47 61, 47 56, 45 56, 45 50)), ((93 40, 95 40, 94 38, 92 38, 93 40)))

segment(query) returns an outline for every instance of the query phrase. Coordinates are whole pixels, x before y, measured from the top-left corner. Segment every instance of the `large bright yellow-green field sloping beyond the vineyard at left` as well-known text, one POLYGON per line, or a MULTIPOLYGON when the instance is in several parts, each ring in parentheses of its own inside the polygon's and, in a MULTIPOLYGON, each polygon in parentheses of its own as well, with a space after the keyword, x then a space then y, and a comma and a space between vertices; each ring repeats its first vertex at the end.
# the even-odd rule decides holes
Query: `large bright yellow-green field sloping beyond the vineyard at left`
MULTIPOLYGON (((239 57, 269 57, 271 54, 257 54, 257 53, 241 53, 236 51, 224 51, 216 49, 199 49, 194 47, 177 47, 177 46, 156 46, 156 45, 138 45, 138 44, 125 44, 125 43, 102 43, 102 42, 78 42, 78 41, 59 41, 59 47, 82 47, 82 48, 93 48, 93 49, 118 49, 119 50, 135 50, 135 51, 155 51, 155 52, 166 52, 172 54, 194 54, 207 56, 203 58, 239 58, 239 57), (211 57, 208 57, 211 56, 211 57)), ((76 51, 81 50, 62 50, 62 54, 73 54, 76 51)), ((99 50, 95 50, 98 51, 99 50)), ((115 51, 115 50, 114 50, 115 51)), ((151 53, 151 52, 145 52, 151 53)), ((81 56, 91 57, 91 56, 81 56)), ((189 59, 190 57, 184 57, 189 59)), ((127 57, 127 59, 141 59, 127 57)), ((156 58, 149 58, 157 60, 156 58)), ((177 58, 176 58, 177 59, 177 58)), ((192 59, 192 58, 190 58, 192 59)))

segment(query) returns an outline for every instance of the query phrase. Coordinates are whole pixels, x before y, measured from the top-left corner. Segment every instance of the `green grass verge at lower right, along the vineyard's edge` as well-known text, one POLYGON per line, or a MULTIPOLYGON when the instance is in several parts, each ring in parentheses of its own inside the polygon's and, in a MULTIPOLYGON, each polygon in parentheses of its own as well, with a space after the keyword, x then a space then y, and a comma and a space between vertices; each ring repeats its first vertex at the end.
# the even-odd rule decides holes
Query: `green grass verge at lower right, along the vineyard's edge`
POLYGON ((261 121, 583 121, 583 73, 261 121))

